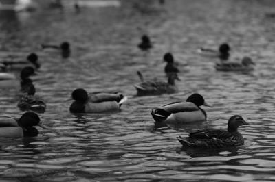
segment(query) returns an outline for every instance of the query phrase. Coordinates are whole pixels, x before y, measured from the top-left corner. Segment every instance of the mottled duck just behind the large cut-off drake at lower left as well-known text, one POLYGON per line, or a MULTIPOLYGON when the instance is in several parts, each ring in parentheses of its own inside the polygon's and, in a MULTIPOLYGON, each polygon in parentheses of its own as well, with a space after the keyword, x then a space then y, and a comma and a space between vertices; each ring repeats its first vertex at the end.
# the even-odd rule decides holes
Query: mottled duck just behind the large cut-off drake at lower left
POLYGON ((46 109, 46 104, 44 99, 41 96, 35 95, 35 87, 33 84, 28 88, 28 94, 22 96, 17 107, 21 109, 21 111, 34 111, 43 113, 46 109))

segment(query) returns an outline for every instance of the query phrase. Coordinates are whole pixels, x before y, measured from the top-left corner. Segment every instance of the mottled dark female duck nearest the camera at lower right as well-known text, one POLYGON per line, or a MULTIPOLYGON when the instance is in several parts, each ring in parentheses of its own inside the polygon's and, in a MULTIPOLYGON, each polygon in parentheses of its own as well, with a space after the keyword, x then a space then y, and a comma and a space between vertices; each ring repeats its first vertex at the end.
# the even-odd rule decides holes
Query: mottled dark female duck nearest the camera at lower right
POLYGON ((221 148, 226 146, 241 146, 244 139, 238 127, 249 125, 242 116, 234 115, 228 120, 228 130, 202 129, 189 133, 188 138, 177 138, 184 147, 192 148, 221 148))

